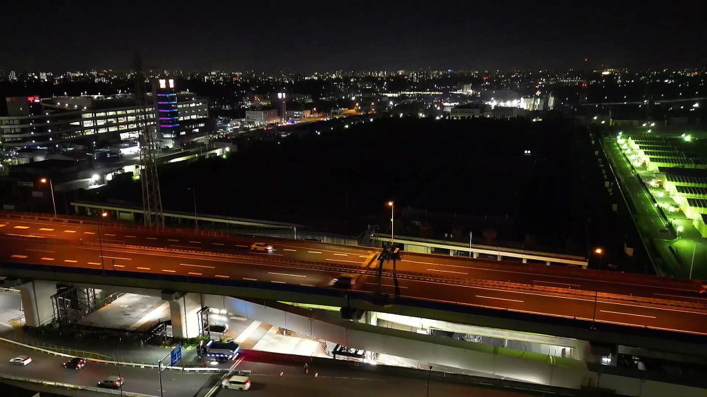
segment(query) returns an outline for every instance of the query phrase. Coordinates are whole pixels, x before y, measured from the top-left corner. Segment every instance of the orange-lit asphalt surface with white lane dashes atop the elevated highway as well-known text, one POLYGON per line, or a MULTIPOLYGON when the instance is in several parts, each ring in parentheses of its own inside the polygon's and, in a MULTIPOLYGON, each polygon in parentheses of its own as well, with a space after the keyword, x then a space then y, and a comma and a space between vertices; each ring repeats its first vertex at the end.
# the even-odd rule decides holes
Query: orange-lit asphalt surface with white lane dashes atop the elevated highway
MULTIPOLYGON (((354 289, 378 289, 372 275, 377 250, 304 240, 0 218, 0 255, 6 263, 311 288, 329 288, 342 273, 368 268, 368 275, 356 276, 354 289), (253 242, 276 251, 250 251, 253 242)), ((707 335, 707 299, 694 281, 412 253, 403 254, 397 270, 402 297, 707 335)), ((395 292, 392 278, 382 285, 395 292)))

